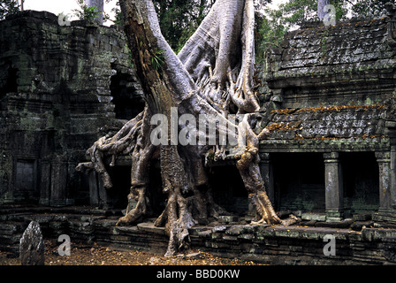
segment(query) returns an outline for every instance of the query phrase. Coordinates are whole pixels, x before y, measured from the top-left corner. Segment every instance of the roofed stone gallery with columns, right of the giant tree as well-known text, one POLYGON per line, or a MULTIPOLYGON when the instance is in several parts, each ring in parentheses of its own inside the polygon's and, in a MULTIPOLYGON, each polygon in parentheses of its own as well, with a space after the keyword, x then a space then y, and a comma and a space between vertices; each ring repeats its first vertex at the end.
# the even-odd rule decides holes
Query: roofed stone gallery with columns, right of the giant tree
POLYGON ((320 212, 326 220, 392 213, 393 20, 307 25, 268 51, 263 80, 276 106, 263 115, 272 134, 261 150, 279 210, 320 212))

